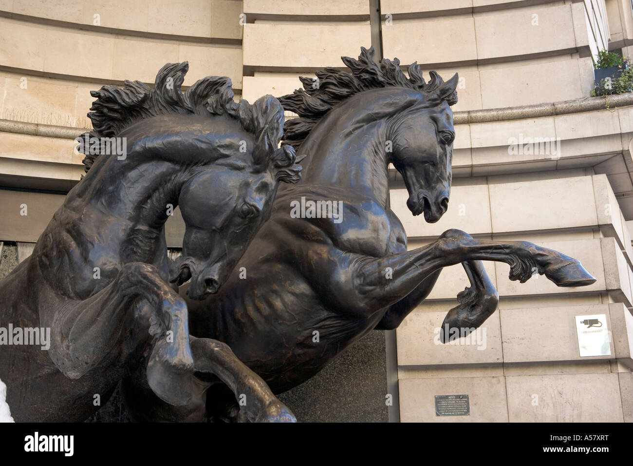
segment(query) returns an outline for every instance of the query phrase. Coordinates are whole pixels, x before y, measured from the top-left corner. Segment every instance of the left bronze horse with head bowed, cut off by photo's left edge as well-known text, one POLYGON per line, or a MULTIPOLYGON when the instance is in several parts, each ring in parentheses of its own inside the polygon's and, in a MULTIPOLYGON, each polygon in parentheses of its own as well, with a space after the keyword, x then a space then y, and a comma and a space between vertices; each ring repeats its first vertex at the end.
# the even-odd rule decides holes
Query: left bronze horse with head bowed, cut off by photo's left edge
POLYGON ((190 344, 187 305, 169 285, 191 279, 190 299, 217 292, 270 216, 279 183, 295 183, 301 171, 294 150, 278 148, 277 99, 237 103, 226 77, 183 93, 188 69, 165 65, 153 89, 125 81, 91 93, 94 131, 77 139, 87 174, 32 256, 0 282, 2 325, 51 331, 48 351, 0 348, 0 379, 18 422, 85 420, 99 409, 97 396, 104 403, 146 365, 156 396, 182 405, 189 374, 214 361, 215 373, 219 365, 248 375, 235 382, 253 394, 248 418, 294 420, 230 351, 218 360, 207 357, 217 342, 190 344), (108 153, 117 144, 125 152, 108 153), (165 222, 177 205, 186 229, 182 258, 170 268, 165 222))

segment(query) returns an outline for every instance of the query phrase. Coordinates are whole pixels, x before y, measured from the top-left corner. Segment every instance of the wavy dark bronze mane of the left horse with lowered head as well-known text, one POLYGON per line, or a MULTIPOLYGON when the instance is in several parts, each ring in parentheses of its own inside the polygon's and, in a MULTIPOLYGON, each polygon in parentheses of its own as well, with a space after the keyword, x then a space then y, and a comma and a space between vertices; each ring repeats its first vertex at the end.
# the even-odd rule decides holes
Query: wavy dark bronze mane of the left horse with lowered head
MULTIPOLYGON (((91 91, 96 97, 88 113, 93 130, 87 134, 96 138, 111 138, 130 124, 169 113, 196 115, 227 115, 238 120, 244 131, 258 138, 263 131, 268 140, 278 143, 283 134, 284 109, 273 96, 263 96, 252 105, 246 100, 233 100, 234 93, 228 77, 208 76, 195 82, 184 93, 181 90, 189 62, 168 63, 156 75, 156 82, 150 88, 141 81, 124 81, 123 86, 103 86, 91 91)), ((79 144, 84 153, 82 160, 85 171, 89 171, 99 153, 91 153, 79 144)), ((294 153, 284 151, 284 160, 277 155, 276 167, 290 167, 294 164, 294 153), (287 160, 285 160, 287 159, 287 160), (290 160, 292 159, 292 160, 290 160)), ((292 171, 292 169, 291 169, 292 171)), ((284 174, 287 175, 284 171, 284 174)), ((280 176, 283 174, 280 173, 280 176)), ((292 177, 291 177, 292 178, 292 177)))

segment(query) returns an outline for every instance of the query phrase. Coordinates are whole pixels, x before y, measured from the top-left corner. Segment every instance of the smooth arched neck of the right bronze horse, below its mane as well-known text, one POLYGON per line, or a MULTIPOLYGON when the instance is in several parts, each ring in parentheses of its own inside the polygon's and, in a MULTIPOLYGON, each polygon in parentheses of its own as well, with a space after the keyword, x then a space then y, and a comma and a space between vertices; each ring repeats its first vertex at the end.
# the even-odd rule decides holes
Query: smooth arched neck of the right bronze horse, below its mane
POLYGON ((385 139, 392 111, 384 96, 368 101, 367 96, 376 92, 349 98, 315 126, 298 150, 298 155, 307 156, 299 184, 336 186, 387 205, 385 139))

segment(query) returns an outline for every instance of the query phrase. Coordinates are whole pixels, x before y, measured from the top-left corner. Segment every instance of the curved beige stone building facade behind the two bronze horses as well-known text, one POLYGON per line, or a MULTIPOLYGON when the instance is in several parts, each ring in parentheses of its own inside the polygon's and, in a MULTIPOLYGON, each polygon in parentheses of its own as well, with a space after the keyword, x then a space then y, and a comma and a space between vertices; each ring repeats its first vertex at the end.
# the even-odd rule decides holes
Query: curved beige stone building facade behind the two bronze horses
MULTIPOLYGON (((342 55, 370 44, 460 75, 441 221, 411 217, 393 171, 392 209, 410 248, 459 228, 561 250, 598 280, 519 284, 488 262, 501 299, 483 340, 442 345, 436 329, 468 285, 461 266, 446 269, 398 330, 375 332, 286 399, 318 400, 325 412, 328 391, 365 361, 372 372, 350 377, 358 385, 339 391, 333 410, 365 415, 340 420, 633 421, 633 97, 589 97, 598 50, 633 56, 630 0, 0 0, 0 273, 30 254, 80 179, 73 138, 89 126, 92 89, 151 84, 165 63, 189 60, 185 86, 227 75, 236 98, 253 101, 291 93, 299 75, 342 67, 342 55), (596 314, 608 354, 580 356, 575 318, 596 314), (451 394, 468 394, 469 415, 436 415, 436 395, 451 394)), ((170 220, 171 248, 182 233, 170 220)))

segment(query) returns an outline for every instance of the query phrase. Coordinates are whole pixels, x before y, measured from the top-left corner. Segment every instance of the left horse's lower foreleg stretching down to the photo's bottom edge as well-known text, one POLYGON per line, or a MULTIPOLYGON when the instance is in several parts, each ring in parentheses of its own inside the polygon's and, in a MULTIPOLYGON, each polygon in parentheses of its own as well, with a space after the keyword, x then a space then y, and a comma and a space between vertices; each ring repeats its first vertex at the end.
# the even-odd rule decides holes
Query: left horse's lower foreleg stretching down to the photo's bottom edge
POLYGON ((237 359, 227 344, 191 337, 191 351, 197 372, 215 374, 235 394, 240 417, 251 422, 296 422, 292 411, 259 375, 237 359))

